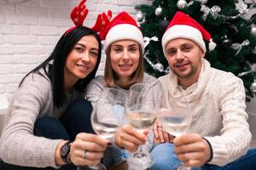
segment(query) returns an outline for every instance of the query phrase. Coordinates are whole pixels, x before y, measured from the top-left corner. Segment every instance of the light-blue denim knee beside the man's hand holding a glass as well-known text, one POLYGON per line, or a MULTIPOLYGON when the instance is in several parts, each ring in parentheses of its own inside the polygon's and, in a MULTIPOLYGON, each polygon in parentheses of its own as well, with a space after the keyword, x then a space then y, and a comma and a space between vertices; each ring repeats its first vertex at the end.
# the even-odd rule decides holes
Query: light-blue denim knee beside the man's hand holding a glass
POLYGON ((173 144, 159 144, 151 150, 151 156, 154 164, 150 170, 171 170, 175 169, 181 161, 177 160, 177 156, 173 152, 173 144))

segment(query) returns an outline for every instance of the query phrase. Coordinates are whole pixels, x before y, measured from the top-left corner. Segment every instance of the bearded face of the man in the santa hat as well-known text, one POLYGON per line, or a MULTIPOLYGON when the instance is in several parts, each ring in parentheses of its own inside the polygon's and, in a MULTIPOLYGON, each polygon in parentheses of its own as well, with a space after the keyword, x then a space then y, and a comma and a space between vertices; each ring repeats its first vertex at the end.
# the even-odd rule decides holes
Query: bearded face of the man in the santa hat
POLYGON ((166 59, 179 81, 197 81, 201 71, 201 58, 205 53, 193 41, 184 38, 174 39, 166 44, 166 59))

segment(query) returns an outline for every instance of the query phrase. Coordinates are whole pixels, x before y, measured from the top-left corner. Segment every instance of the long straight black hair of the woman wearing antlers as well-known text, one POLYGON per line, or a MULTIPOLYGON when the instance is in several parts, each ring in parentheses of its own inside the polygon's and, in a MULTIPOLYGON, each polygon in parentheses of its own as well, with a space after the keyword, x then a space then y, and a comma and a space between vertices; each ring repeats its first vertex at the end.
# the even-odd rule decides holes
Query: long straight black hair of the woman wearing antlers
MULTIPOLYGON (((90 82, 91 79, 96 76, 96 71, 100 64, 102 56, 102 44, 100 37, 95 31, 92 31, 90 30, 90 28, 85 26, 79 26, 73 29, 73 31, 68 32, 67 35, 63 34, 59 42, 56 44, 52 54, 49 55, 49 58, 45 59, 43 63, 38 65, 27 74, 29 75, 30 73, 38 73, 39 75, 44 77, 44 75, 39 72, 41 68, 44 69, 45 75, 49 78, 49 81, 52 84, 53 99, 57 107, 63 105, 66 100, 66 94, 64 89, 64 68, 67 56, 72 51, 74 45, 79 42, 82 37, 87 35, 92 35, 96 37, 96 40, 99 44, 99 51, 95 69, 91 71, 90 74, 84 79, 79 79, 79 81, 76 82, 76 84, 74 85, 74 88, 76 90, 78 90, 79 92, 84 92, 84 88, 86 87, 86 85, 90 82), (49 64, 52 61, 52 65, 49 64), (49 69, 46 69, 48 65, 49 69)), ((20 84, 24 81, 27 75, 21 80, 20 84)))

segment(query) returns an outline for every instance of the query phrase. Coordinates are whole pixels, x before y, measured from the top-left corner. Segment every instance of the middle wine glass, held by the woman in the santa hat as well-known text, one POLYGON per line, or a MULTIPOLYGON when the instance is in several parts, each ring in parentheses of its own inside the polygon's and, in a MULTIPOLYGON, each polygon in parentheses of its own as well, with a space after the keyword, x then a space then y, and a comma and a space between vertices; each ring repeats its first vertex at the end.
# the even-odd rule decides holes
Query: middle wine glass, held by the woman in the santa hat
MULTIPOLYGON (((148 84, 137 83, 131 86, 130 93, 125 105, 127 122, 138 131, 152 127, 157 113, 157 98, 154 90, 148 84)), ((128 156, 129 166, 139 169, 147 169, 153 164, 153 159, 147 150, 139 146, 135 154, 128 156)))

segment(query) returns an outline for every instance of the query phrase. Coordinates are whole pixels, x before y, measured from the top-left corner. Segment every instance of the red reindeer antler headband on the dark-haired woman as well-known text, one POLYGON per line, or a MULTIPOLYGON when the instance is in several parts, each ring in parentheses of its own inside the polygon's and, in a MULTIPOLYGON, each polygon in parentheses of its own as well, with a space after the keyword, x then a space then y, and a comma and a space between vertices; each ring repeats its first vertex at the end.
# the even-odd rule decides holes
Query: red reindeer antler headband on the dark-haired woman
MULTIPOLYGON (((67 34, 70 31, 73 31, 73 29, 77 28, 78 26, 83 26, 84 19, 86 18, 89 12, 88 8, 86 8, 85 2, 86 0, 82 0, 79 3, 79 6, 73 8, 73 10, 71 11, 70 18, 71 20, 73 20, 73 23, 75 26, 67 30, 65 36, 67 36, 67 34)), ((105 13, 98 14, 95 25, 92 26, 90 29, 96 32, 100 32, 104 30, 104 28, 108 26, 109 20, 111 18, 112 18, 111 10, 108 10, 108 15, 105 13)))

